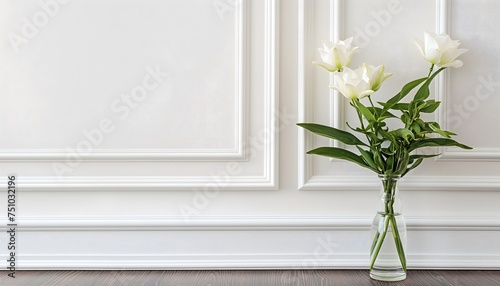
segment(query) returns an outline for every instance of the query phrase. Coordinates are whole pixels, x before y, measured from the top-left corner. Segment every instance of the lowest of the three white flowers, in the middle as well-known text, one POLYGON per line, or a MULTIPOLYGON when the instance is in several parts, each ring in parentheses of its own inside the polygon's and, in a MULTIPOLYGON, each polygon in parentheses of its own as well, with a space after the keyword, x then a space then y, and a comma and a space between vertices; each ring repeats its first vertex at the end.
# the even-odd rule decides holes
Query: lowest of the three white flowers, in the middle
POLYGON ((335 73, 333 76, 334 83, 330 87, 349 99, 360 99, 375 92, 363 67, 356 70, 344 67, 342 72, 335 73))

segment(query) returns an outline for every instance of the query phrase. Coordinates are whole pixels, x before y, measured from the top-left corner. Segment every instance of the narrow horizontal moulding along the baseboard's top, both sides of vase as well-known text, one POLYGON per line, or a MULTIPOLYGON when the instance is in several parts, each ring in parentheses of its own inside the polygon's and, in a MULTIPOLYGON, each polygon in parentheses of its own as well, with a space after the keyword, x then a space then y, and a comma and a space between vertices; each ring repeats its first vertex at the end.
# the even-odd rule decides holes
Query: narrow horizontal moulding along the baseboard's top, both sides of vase
MULTIPOLYGON (((365 216, 45 216, 16 218, 19 231, 370 230, 365 216)), ((410 231, 500 231, 500 217, 405 217, 410 231)), ((8 229, 7 219, 0 230, 8 229)))

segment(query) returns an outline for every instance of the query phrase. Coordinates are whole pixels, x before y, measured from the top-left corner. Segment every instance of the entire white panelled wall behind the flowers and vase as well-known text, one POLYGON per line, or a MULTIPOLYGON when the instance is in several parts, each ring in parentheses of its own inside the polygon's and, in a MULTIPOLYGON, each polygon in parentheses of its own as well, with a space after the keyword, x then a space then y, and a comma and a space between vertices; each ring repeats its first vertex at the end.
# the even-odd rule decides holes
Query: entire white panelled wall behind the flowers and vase
POLYGON ((352 116, 310 64, 322 40, 355 36, 391 95, 425 76, 426 30, 470 50, 434 95, 475 149, 401 181, 409 266, 500 267, 496 1, 40 3, 0 4, 19 267, 367 267, 375 175, 306 156, 328 142, 295 123, 352 116))

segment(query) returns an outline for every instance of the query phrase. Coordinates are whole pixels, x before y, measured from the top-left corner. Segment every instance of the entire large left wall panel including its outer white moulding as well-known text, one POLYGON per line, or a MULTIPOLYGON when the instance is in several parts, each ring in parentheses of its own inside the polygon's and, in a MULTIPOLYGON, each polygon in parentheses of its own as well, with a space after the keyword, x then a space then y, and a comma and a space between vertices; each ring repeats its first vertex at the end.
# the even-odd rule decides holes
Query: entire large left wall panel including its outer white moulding
POLYGON ((0 5, 0 170, 26 191, 275 188, 275 1, 0 5))

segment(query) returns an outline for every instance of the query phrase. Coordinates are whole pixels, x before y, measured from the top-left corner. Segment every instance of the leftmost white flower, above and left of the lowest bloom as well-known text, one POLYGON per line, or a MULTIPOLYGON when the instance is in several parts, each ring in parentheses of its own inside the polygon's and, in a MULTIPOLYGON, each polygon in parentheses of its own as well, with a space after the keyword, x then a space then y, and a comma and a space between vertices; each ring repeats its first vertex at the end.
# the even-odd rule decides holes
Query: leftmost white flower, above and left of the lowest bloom
POLYGON ((323 63, 313 62, 313 64, 322 66, 330 72, 336 72, 348 66, 351 63, 352 55, 359 49, 351 47, 352 40, 353 38, 350 37, 337 43, 323 43, 323 48, 318 49, 323 63))

